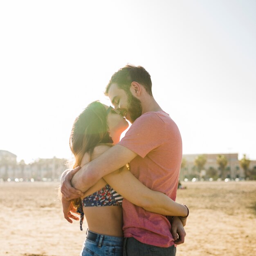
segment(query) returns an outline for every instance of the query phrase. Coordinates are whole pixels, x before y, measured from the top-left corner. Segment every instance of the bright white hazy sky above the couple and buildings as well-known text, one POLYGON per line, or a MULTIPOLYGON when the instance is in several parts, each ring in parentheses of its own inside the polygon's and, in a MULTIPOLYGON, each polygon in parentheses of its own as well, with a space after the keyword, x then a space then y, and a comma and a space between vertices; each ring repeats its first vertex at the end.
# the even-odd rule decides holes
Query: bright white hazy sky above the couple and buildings
POLYGON ((254 0, 1 1, 0 149, 70 158, 75 117, 132 63, 184 154, 256 159, 255 13, 254 0))

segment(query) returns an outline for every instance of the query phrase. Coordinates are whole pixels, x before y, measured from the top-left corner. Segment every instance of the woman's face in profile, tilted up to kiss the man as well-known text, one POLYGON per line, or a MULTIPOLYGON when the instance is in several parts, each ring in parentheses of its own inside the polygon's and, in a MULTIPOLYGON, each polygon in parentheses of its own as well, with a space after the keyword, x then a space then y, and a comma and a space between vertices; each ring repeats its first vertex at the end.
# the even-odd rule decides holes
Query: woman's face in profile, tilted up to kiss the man
POLYGON ((118 111, 116 111, 114 108, 111 106, 106 106, 104 105, 106 110, 108 111, 108 127, 110 130, 110 136, 116 136, 116 135, 121 135, 124 130, 126 130, 129 126, 128 122, 126 119, 119 114, 118 111))

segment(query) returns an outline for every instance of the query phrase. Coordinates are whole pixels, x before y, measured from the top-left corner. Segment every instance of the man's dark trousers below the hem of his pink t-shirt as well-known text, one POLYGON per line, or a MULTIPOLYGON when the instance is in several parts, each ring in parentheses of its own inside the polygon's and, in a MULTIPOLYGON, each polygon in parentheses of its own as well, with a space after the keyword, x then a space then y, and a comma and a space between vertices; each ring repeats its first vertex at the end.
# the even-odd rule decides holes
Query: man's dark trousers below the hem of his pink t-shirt
POLYGON ((176 247, 157 247, 139 242, 133 237, 124 238, 124 256, 175 256, 176 247))

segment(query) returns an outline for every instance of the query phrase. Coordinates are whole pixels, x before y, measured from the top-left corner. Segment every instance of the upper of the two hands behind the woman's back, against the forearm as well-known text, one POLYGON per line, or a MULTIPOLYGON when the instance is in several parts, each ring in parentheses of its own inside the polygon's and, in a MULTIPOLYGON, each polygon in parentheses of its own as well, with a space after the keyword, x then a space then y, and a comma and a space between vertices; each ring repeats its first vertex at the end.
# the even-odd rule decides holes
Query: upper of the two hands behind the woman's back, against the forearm
POLYGON ((74 198, 80 198, 81 196, 83 196, 83 192, 73 188, 70 183, 74 174, 77 173, 80 169, 81 167, 78 166, 73 170, 64 171, 61 175, 61 193, 62 198, 64 198, 66 202, 74 198))

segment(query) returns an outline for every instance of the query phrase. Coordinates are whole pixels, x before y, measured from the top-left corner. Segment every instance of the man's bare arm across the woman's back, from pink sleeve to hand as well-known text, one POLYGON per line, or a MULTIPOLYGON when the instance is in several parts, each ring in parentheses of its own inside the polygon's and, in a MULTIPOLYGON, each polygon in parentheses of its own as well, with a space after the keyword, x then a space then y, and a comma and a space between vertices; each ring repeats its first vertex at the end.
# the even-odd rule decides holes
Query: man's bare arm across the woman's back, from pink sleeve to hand
POLYGON ((72 194, 68 193, 72 186, 80 191, 87 191, 103 176, 126 165, 136 156, 137 154, 132 150, 121 145, 115 145, 96 159, 85 164, 74 176, 72 173, 67 173, 61 185, 61 192, 65 191, 65 198, 78 198, 81 196, 80 194, 74 197, 74 191, 72 194))

